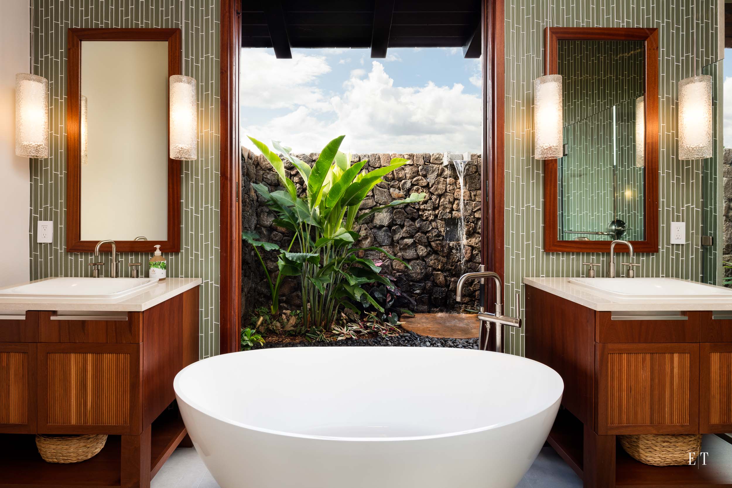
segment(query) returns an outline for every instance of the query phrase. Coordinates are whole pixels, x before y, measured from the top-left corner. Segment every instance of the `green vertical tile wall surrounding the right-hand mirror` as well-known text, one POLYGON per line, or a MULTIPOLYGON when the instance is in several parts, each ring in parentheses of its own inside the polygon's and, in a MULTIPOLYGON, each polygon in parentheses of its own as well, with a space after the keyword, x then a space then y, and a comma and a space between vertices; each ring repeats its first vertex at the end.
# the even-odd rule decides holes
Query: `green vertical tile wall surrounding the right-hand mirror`
MULTIPOLYGON (((676 158, 676 85, 692 73, 692 45, 696 45, 698 66, 717 61, 719 5, 720 0, 506 1, 506 296, 523 289, 524 277, 581 276, 581 263, 586 260, 601 263, 603 275, 607 269, 607 253, 542 249, 544 163, 531 157, 532 81, 544 75, 547 26, 659 29, 660 249, 637 255, 635 261, 641 263, 641 276, 701 280, 703 164, 676 158), (668 227, 673 221, 686 222, 689 244, 669 244, 668 227)), ((507 328, 507 352, 523 356, 523 334, 535 326, 540 324, 526 323, 521 331, 507 328)))

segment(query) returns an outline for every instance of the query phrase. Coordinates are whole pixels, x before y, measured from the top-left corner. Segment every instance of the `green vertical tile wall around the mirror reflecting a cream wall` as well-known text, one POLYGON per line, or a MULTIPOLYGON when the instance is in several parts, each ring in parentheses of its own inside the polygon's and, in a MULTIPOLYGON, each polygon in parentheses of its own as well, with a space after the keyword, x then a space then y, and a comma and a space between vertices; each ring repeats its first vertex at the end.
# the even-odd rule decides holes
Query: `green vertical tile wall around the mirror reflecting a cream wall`
MULTIPOLYGON (((33 73, 48 79, 51 131, 48 159, 31 160, 31 279, 87 276, 91 259, 66 251, 67 29, 182 29, 183 74, 198 81, 199 154, 182 162, 181 252, 165 254, 169 277, 203 279, 201 358, 219 350, 219 9, 219 0, 31 0, 33 73), (36 244, 38 220, 53 220, 53 244, 36 244)), ((123 252, 123 276, 149 257, 123 252)))

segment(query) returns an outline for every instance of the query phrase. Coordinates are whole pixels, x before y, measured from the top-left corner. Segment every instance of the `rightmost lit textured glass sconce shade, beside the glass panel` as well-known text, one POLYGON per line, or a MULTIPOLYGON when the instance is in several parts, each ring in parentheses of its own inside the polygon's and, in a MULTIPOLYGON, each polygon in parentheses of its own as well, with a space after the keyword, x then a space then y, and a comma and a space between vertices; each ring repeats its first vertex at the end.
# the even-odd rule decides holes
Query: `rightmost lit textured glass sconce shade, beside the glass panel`
POLYGON ((712 76, 679 82, 679 159, 712 157, 712 76))

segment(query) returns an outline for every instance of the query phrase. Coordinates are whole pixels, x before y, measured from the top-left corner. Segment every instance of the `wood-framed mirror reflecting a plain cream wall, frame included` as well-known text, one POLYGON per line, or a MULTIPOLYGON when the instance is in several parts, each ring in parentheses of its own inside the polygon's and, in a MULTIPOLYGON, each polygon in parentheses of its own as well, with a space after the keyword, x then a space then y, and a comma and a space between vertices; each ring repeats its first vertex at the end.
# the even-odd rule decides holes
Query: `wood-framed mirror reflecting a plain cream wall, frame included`
POLYGON ((67 56, 67 250, 112 239, 118 252, 180 252, 181 165, 168 155, 180 29, 68 29, 67 56))

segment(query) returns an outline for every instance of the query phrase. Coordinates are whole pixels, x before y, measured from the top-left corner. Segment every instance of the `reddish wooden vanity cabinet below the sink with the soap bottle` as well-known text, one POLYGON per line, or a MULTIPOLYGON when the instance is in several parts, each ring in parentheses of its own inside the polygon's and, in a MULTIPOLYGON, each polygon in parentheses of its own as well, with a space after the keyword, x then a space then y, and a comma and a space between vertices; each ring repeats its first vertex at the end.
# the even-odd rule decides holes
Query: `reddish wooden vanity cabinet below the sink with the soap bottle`
POLYGON ((198 288, 99 318, 29 311, 0 334, 0 487, 149 487, 186 435, 170 406, 173 378, 198 360, 198 288), (40 459, 37 433, 110 437, 71 469, 40 459))

